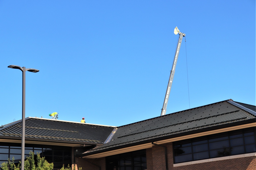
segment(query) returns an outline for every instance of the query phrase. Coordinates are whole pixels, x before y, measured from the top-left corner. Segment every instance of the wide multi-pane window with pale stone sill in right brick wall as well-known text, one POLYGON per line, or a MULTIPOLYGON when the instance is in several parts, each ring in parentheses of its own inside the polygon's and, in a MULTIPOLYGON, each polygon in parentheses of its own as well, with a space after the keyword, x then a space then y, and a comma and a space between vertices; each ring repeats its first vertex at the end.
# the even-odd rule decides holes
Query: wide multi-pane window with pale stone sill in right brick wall
POLYGON ((173 142, 174 163, 256 152, 255 130, 246 128, 173 142))

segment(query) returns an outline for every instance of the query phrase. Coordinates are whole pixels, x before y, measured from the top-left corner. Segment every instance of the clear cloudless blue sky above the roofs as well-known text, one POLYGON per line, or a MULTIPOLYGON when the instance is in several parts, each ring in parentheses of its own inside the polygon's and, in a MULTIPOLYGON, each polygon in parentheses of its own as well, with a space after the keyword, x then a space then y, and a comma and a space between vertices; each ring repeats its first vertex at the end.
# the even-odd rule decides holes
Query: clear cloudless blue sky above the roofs
POLYGON ((255 105, 255 1, 0 1, 0 125, 26 117, 121 126, 218 101, 255 105), (186 40, 186 41, 185 41, 186 40))

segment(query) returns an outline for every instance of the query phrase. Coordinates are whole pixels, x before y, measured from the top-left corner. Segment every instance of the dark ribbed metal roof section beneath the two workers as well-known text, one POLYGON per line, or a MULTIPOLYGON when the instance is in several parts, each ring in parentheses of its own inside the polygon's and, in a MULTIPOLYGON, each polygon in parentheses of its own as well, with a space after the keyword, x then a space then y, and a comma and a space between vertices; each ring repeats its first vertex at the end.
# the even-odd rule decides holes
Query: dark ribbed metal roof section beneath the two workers
MULTIPOLYGON (((27 117, 25 140, 103 144, 115 126, 27 117)), ((0 127, 0 138, 20 139, 22 120, 0 127)))

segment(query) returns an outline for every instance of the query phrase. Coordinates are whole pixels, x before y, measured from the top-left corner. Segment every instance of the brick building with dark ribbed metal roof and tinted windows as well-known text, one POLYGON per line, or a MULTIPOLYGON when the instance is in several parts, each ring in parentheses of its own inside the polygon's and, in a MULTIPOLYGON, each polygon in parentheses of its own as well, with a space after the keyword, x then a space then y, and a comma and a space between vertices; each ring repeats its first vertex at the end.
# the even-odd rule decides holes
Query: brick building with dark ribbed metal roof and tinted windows
MULTIPOLYGON (((28 117, 25 154, 54 169, 256 169, 255 127, 255 106, 231 99, 120 127, 28 117)), ((19 161, 21 132, 0 127, 0 162, 19 161)))

